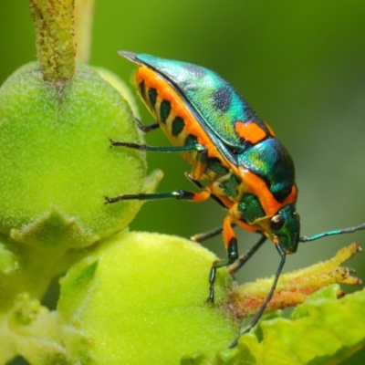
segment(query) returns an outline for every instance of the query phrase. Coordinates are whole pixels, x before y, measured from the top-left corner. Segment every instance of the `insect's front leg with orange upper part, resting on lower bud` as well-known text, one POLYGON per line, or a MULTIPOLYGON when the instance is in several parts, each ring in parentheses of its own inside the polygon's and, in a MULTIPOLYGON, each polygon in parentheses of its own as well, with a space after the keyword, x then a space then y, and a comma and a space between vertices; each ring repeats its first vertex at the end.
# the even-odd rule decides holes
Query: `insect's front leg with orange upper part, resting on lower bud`
POLYGON ((229 215, 224 218, 223 239, 228 257, 225 260, 215 261, 211 268, 211 272, 209 275, 209 297, 207 301, 212 303, 214 302, 214 281, 216 276, 216 269, 218 267, 231 265, 238 258, 237 237, 235 236, 235 231, 232 228, 231 217, 229 215))

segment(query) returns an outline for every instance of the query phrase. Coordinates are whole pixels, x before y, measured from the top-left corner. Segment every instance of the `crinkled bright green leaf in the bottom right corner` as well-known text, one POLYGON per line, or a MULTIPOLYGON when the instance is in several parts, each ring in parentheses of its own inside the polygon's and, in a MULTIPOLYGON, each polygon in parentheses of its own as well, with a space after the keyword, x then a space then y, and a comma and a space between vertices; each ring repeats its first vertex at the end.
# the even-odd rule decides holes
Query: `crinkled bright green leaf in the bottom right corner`
POLYGON ((266 316, 255 331, 242 336, 235 350, 215 360, 203 355, 183 365, 328 365, 339 364, 365 346, 365 290, 337 299, 339 287, 320 290, 290 318, 266 316))

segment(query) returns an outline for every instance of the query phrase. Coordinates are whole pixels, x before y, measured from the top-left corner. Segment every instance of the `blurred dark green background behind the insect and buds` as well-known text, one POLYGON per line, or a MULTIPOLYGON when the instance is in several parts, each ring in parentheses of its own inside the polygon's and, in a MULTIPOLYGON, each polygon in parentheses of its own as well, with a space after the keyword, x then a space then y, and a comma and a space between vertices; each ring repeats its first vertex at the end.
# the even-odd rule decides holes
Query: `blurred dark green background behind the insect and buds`
MULTIPOLYGON (((0 47, 1 82, 35 59, 26 0, 1 1, 0 47)), ((365 2, 96 1, 90 64, 129 81, 134 66, 117 55, 119 49, 214 69, 244 95, 296 163, 302 235, 365 222, 365 2)), ((141 120, 151 122, 140 106, 141 120)), ((159 130, 146 141, 169 145, 159 130)), ((148 161, 151 171, 165 173, 160 191, 194 189, 179 156, 150 153, 148 161)), ((223 217, 214 202, 151 202, 131 229, 188 237, 218 226, 223 217)), ((242 230, 238 237, 241 252, 256 239, 242 230)), ((286 270, 326 259, 354 241, 365 248, 365 232, 302 244, 286 270)), ((224 257, 220 237, 204 245, 224 257)), ((278 261, 267 243, 238 280, 272 275, 278 261)), ((349 266, 365 279, 364 262, 358 255, 349 266)), ((345 363, 364 358, 362 351, 345 363)))

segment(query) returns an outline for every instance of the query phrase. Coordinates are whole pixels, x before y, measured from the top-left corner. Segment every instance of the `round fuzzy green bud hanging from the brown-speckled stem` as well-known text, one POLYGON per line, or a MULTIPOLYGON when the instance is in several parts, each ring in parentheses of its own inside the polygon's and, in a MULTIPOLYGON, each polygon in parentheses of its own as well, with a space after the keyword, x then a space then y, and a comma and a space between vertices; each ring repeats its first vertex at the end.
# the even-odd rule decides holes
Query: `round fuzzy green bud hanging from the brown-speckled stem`
POLYGON ((144 154, 110 149, 139 142, 130 108, 86 65, 61 87, 36 63, 0 89, 0 233, 38 246, 80 247, 125 228, 141 203, 104 204, 104 195, 139 193, 144 154))

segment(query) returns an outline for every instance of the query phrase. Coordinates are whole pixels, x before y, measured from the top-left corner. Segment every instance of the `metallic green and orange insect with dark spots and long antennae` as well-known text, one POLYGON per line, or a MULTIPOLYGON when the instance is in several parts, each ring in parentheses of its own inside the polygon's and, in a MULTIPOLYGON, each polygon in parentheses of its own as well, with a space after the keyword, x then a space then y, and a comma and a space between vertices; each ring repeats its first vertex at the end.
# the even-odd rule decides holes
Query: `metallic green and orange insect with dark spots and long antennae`
MULTIPOLYGON (((138 65, 137 90, 156 119, 148 125, 137 120, 138 127, 144 132, 160 127, 172 146, 110 140, 111 144, 142 151, 180 152, 192 165, 187 176, 200 191, 125 194, 107 197, 106 203, 166 198, 203 202, 211 197, 222 205, 226 211, 223 226, 193 237, 202 242, 223 234, 227 258, 213 263, 207 299, 211 302, 214 301, 216 269, 230 266, 231 273, 235 273, 269 238, 281 258, 266 300, 245 329, 246 333, 264 313, 287 254, 297 252, 299 242, 355 232, 365 229, 365 224, 310 237, 300 236, 294 163, 285 147, 276 140, 273 130, 245 99, 207 68, 125 51, 120 51, 120 55, 138 65), (238 255, 235 225, 260 234, 260 239, 242 256, 238 255)), ((236 343, 235 340, 231 348, 236 343)))

